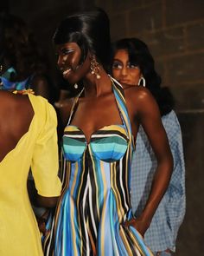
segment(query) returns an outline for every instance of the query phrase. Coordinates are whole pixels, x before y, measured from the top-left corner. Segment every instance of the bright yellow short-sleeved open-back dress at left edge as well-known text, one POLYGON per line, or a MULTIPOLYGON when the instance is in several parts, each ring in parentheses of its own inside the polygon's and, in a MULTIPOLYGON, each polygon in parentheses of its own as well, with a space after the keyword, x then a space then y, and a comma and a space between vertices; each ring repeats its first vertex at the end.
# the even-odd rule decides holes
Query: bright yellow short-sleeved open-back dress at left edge
POLYGON ((29 95, 35 115, 29 131, 0 162, 0 255, 43 255, 41 235, 30 206, 30 163, 35 187, 43 196, 61 194, 58 173, 56 115, 41 96, 29 95))

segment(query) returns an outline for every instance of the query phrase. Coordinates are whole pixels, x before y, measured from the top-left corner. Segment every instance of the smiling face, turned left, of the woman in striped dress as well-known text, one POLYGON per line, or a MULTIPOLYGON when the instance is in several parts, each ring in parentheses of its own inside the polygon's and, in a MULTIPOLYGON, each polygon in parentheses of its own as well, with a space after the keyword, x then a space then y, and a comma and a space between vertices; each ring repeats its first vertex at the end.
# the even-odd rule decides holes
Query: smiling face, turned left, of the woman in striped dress
POLYGON ((62 43, 56 46, 57 65, 63 77, 70 83, 79 82, 90 70, 90 60, 80 63, 81 49, 77 43, 62 43))

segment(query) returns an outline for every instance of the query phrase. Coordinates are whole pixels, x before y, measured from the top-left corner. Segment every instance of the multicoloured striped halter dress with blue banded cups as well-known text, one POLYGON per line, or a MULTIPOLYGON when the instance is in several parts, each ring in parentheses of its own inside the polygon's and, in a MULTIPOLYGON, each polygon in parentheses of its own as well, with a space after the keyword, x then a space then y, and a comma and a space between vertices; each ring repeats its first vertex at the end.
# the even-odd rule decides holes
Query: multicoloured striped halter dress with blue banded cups
POLYGON ((73 103, 63 135, 63 190, 44 254, 54 256, 151 256, 142 236, 125 227, 131 212, 131 124, 122 86, 112 80, 122 125, 105 126, 86 142, 83 131, 70 125, 73 103))

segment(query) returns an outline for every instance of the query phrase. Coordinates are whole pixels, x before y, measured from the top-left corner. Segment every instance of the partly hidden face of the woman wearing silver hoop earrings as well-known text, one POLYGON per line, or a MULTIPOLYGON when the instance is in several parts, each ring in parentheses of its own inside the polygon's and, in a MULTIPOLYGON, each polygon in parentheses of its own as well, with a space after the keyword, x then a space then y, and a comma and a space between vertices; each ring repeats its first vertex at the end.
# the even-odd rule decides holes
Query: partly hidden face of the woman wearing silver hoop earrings
POLYGON ((118 49, 113 58, 112 76, 122 85, 137 85, 142 73, 138 66, 129 62, 128 52, 118 49))

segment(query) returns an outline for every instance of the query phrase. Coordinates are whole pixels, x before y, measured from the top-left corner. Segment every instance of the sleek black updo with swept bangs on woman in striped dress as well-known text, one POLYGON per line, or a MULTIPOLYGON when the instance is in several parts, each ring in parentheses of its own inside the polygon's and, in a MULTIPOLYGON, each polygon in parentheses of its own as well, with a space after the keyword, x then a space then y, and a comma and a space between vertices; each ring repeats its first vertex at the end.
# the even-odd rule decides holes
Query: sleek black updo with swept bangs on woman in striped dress
POLYGON ((77 43, 84 62, 88 51, 107 69, 110 62, 111 36, 109 18, 104 10, 80 11, 61 21, 53 37, 55 44, 77 43))

